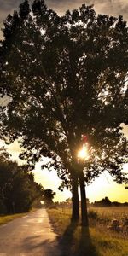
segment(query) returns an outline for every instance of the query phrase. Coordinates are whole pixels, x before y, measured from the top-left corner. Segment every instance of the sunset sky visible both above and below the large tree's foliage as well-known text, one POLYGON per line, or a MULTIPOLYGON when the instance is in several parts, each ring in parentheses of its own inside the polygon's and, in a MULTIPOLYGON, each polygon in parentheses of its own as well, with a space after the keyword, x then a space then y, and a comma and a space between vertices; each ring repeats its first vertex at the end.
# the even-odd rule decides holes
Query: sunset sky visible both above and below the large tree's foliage
MULTIPOLYGON (((20 0, 0 0, 0 27, 3 26, 3 20, 7 15, 13 14, 15 9, 18 9, 20 0)), ((49 8, 54 9, 58 15, 63 15, 67 9, 78 9, 82 3, 87 5, 94 4, 96 14, 108 15, 123 15, 124 20, 128 20, 128 0, 46 0, 45 3, 49 8)), ((2 39, 2 32, 0 32, 2 39)), ((128 126, 124 126, 125 136, 128 137, 128 126)), ((0 142, 1 146, 3 142, 0 142)), ((12 154, 14 160, 18 160, 20 153, 20 146, 17 142, 11 144, 8 148, 9 153, 12 154)), ((19 160, 18 160, 19 161, 19 160)), ((19 163, 21 163, 19 161, 19 163)), ((63 192, 58 191, 60 179, 57 177, 55 171, 48 170, 41 171, 41 163, 38 163, 35 168, 35 180, 42 183, 44 189, 53 189, 56 192, 55 201, 65 201, 71 197, 71 193, 66 189, 63 192)), ((128 170, 124 166, 125 171, 128 170)), ((87 187, 87 197, 90 201, 100 200, 108 196, 111 201, 128 201, 128 190, 124 186, 113 183, 112 177, 107 172, 102 173, 102 176, 96 178, 96 181, 87 187)))

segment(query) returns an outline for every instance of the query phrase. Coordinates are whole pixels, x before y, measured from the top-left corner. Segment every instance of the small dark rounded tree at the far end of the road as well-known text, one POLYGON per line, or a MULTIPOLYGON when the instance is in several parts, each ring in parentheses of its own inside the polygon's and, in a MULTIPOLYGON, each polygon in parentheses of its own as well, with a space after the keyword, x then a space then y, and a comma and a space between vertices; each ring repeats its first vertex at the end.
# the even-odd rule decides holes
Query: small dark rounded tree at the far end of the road
POLYGON ((53 205, 53 199, 56 193, 51 189, 44 189, 43 193, 43 201, 46 207, 51 207, 53 205))

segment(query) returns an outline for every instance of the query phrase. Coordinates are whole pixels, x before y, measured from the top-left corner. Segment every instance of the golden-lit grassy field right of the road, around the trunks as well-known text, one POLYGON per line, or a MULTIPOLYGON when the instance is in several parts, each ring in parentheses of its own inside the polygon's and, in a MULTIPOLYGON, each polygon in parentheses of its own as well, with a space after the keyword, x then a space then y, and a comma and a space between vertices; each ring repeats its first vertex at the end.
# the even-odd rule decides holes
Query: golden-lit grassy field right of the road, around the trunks
POLYGON ((113 219, 123 223, 128 207, 89 209, 90 228, 70 224, 71 209, 49 209, 49 218, 67 256, 128 256, 128 236, 109 230, 113 219))

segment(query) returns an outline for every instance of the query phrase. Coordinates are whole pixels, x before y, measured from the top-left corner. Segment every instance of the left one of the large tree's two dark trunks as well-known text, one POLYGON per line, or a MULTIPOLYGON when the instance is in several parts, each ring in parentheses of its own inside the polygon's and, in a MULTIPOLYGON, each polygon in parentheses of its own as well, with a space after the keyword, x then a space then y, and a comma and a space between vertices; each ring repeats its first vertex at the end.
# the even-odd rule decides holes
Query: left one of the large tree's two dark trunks
POLYGON ((79 192, 78 192, 78 174, 75 170, 72 172, 72 222, 79 220, 79 192))

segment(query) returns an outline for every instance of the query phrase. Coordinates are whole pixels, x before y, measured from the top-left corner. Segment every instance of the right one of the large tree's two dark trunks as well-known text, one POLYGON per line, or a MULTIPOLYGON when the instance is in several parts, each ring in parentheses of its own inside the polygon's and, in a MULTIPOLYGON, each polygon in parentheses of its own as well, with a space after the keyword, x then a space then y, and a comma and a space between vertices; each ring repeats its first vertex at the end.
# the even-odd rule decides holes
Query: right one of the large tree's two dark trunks
POLYGON ((80 194, 81 194, 81 218, 82 226, 89 226, 88 222, 88 212, 87 212, 87 202, 86 202, 86 192, 84 184, 84 173, 81 170, 79 172, 79 185, 80 185, 80 194))

